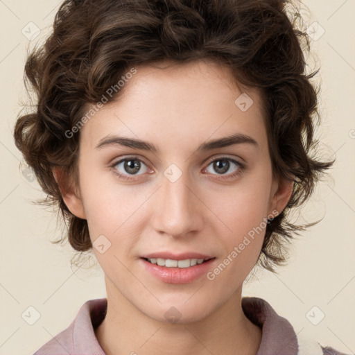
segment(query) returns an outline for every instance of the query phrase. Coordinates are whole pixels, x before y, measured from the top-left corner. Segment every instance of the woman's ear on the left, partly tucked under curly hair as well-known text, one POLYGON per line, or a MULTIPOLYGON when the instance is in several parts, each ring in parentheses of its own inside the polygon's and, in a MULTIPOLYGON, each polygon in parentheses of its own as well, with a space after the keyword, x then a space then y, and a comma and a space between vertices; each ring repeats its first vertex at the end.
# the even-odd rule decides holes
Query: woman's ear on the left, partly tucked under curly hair
POLYGON ((77 194, 72 178, 67 173, 64 173, 62 168, 57 167, 53 168, 53 175, 69 211, 78 218, 86 219, 83 200, 77 194))

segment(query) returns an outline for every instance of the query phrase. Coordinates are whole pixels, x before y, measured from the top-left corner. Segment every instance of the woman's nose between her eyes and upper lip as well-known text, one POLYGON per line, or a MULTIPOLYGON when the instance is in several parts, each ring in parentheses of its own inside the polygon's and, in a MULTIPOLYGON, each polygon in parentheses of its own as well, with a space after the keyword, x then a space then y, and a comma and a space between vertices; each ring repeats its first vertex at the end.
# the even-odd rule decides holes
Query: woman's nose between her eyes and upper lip
POLYGON ((153 200, 153 227, 174 238, 191 236, 202 228, 203 203, 187 173, 182 173, 176 181, 166 176, 162 177, 162 186, 153 200))

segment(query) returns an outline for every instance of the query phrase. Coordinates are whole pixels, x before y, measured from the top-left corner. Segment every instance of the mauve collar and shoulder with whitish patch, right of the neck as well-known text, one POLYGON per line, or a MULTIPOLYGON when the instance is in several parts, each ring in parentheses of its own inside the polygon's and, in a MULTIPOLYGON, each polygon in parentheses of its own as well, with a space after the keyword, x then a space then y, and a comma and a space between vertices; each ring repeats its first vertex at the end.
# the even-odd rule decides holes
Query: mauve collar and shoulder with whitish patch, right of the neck
POLYGON ((242 309, 248 319, 262 329, 256 355, 348 355, 333 347, 323 346, 300 331, 296 333, 293 325, 262 298, 243 297, 242 309))

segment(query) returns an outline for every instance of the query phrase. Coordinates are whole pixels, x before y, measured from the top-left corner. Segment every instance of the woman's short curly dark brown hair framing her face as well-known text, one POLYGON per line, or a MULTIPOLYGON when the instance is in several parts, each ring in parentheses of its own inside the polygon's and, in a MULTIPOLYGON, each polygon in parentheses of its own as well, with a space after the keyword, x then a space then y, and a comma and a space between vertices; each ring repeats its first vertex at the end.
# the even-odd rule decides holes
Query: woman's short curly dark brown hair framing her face
MULTIPOLYGON (((300 230, 289 211, 302 205, 334 163, 311 152, 319 124, 318 91, 306 74, 310 51, 295 1, 286 0, 67 0, 55 15, 53 32, 33 49, 25 67, 27 88, 35 90, 35 111, 19 115, 14 138, 68 225, 71 246, 92 248, 87 220, 69 211, 53 176, 60 167, 78 185, 80 132, 68 137, 107 88, 134 66, 162 60, 210 59, 232 69, 239 83, 261 89, 272 168, 294 180, 288 205, 266 227, 258 262, 275 271, 285 263, 284 247, 300 230)), ((120 95, 115 90, 110 100, 120 95)))

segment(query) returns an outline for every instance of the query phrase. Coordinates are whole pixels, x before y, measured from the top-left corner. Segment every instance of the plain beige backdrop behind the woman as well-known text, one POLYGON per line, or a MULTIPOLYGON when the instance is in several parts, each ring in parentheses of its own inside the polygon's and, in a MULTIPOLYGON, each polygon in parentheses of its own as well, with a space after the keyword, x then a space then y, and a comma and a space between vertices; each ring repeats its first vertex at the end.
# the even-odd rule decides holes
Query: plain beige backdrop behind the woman
MULTIPOLYGON (((69 326, 86 300, 105 297, 101 269, 71 268, 71 249, 49 242, 59 233, 55 214, 28 202, 44 195, 37 182, 22 174, 22 158, 12 139, 19 101, 26 98, 22 83, 26 48, 45 37, 59 3, 0 1, 0 354, 33 354, 69 326), (33 31, 29 22, 42 30, 31 43, 21 33, 22 28, 29 33, 29 26, 33 31), (28 306, 41 315, 33 325, 21 318, 28 314, 28 306)), ((320 185, 304 209, 303 218, 324 216, 322 222, 293 243, 289 264, 279 269, 279 275, 260 272, 259 281, 246 285, 244 294, 266 299, 297 333, 354 354, 355 0, 305 3, 313 12, 312 21, 325 31, 313 42, 313 50, 322 76, 324 157, 335 154, 336 165, 331 179, 320 185), (318 325, 306 318, 313 306, 318 307, 311 312, 313 322, 320 312, 325 315, 318 325)))

